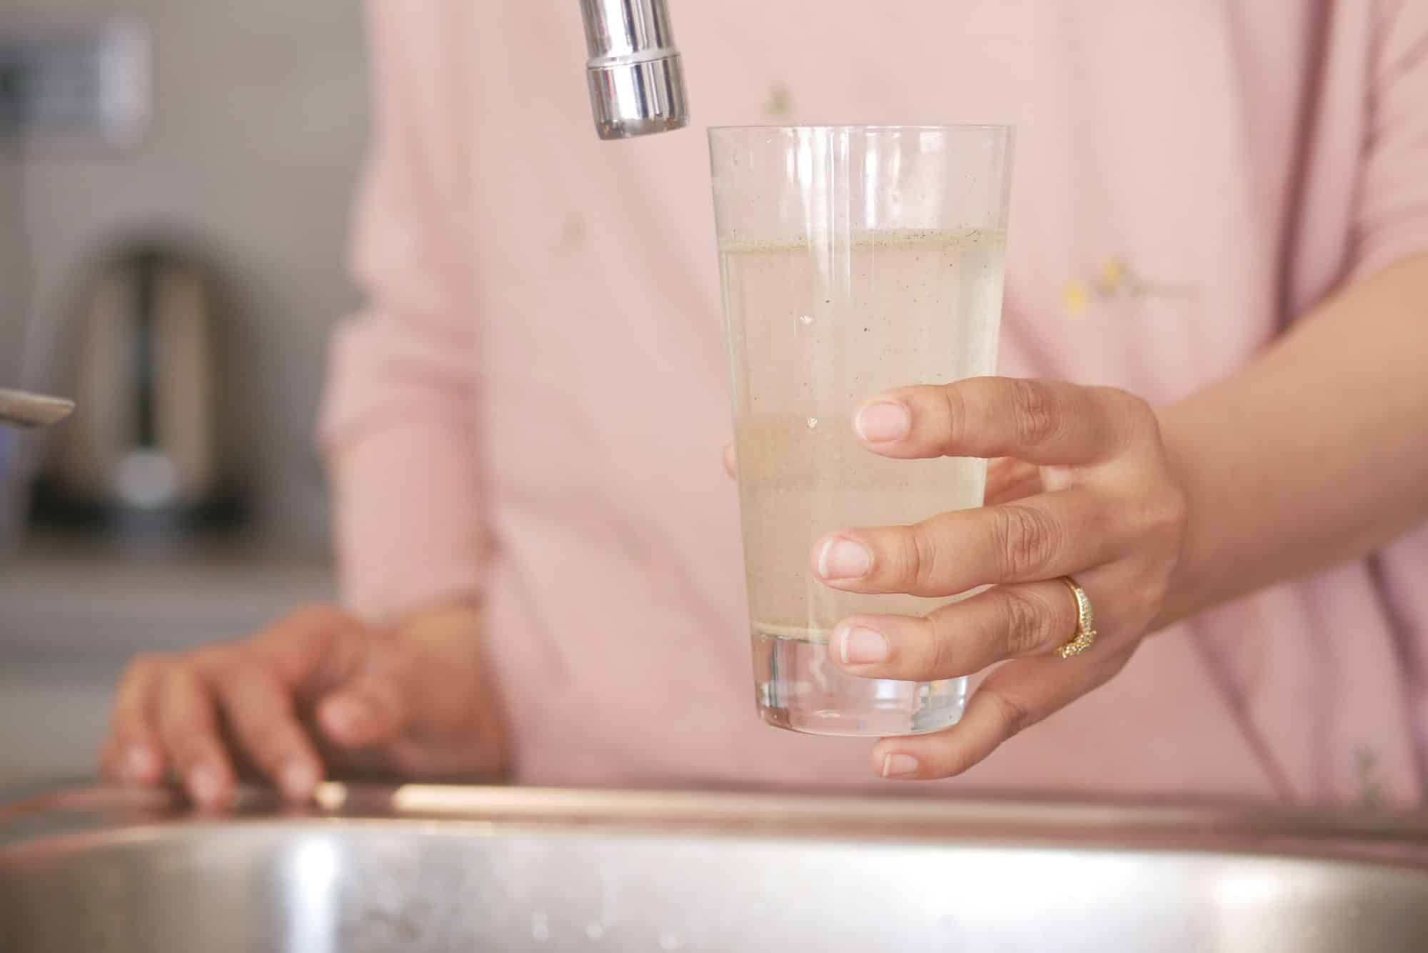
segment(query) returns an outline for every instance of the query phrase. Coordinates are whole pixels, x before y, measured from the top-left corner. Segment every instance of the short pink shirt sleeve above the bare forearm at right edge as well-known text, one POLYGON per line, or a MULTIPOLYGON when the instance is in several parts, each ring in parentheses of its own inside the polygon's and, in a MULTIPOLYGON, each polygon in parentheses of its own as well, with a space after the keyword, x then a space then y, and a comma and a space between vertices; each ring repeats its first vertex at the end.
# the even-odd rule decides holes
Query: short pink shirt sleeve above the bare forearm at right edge
POLYGON ((1378 0, 1354 276, 1428 253, 1428 3, 1378 0))

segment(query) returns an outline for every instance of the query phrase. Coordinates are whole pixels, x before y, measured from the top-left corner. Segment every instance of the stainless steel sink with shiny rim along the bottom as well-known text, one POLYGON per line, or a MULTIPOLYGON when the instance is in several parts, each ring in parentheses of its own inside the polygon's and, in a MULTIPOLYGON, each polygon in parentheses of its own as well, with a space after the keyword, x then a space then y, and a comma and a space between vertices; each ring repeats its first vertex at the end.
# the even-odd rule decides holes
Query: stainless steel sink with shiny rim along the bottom
POLYGON ((1421 950, 1428 820, 327 784, 0 804, 0 949, 1421 950))

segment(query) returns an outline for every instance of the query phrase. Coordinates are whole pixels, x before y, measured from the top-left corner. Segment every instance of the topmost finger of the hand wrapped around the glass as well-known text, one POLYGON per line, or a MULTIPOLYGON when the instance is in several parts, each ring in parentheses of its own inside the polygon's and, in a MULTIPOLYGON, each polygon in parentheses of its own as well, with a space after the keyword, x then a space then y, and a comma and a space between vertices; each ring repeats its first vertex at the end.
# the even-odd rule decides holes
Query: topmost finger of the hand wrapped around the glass
POLYGON ((854 427, 885 457, 1015 457, 1041 466, 1104 463, 1130 446, 1148 409, 1112 387, 971 377, 890 390, 854 427))

